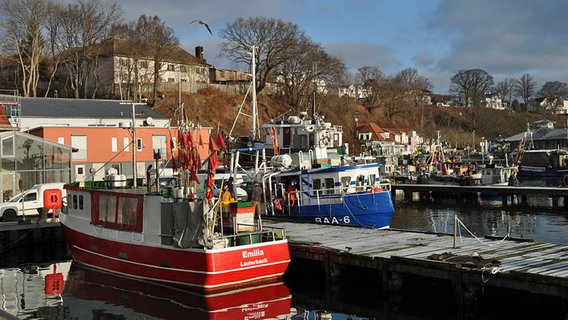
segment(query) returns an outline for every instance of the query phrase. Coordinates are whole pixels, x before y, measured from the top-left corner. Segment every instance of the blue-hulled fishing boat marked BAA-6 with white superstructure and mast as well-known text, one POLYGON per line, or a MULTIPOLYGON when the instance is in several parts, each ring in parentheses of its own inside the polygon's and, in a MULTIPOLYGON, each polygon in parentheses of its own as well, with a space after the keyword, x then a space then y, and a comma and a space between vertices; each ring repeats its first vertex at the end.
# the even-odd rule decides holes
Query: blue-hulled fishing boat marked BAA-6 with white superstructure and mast
MULTIPOLYGON (((254 63, 252 74, 254 84, 254 63)), ((255 86, 251 88, 251 118, 256 119, 255 86)), ((315 109, 314 103, 311 117, 300 112, 272 119, 262 126, 264 137, 258 139, 253 120, 253 135, 247 138, 247 145, 241 144, 231 152, 232 174, 244 173, 249 185, 261 183, 260 211, 264 215, 313 223, 389 227, 394 206, 390 182, 381 181, 380 164, 351 161, 348 146, 343 144, 343 128, 326 122, 325 114, 315 109)))

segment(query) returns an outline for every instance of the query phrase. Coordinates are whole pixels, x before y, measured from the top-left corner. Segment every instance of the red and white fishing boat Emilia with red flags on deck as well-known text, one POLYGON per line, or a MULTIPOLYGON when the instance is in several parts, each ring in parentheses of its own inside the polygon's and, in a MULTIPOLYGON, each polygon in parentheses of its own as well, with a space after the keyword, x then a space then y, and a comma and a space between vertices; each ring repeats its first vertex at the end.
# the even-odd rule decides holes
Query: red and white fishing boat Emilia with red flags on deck
MULTIPOLYGON (((181 132, 178 142, 192 141, 190 134, 189 129, 181 132)), ((263 227, 250 202, 222 206, 213 197, 219 148, 212 139, 206 160, 209 188, 197 192, 196 172, 205 161, 193 156, 192 147, 177 147, 178 187, 165 191, 159 177, 155 187, 137 188, 110 171, 99 187, 95 182, 66 185, 60 221, 73 260, 203 292, 281 279, 290 263, 285 230, 263 227)))

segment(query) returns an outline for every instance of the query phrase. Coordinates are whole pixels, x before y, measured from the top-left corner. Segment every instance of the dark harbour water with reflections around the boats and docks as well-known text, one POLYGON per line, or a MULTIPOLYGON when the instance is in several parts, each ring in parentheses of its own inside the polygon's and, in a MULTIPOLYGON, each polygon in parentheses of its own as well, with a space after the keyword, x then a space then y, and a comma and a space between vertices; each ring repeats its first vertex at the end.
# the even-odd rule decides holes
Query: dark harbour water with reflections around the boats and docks
MULTIPOLYGON (((546 199, 537 200, 546 201, 546 199)), ((502 208, 499 202, 397 202, 391 227, 461 237, 568 244, 568 211, 502 208), (458 226, 455 229, 456 225, 458 226)), ((317 228, 317 226, 314 226, 317 228)), ((459 239, 458 239, 459 241, 459 239)), ((28 255, 29 256, 29 255, 28 255)), ((36 255, 37 256, 37 255, 36 255)), ((45 257, 42 256, 45 260, 45 257)), ((402 301, 387 305, 379 285, 352 281, 333 292, 317 266, 291 265, 284 283, 235 291, 224 297, 115 277, 82 268, 70 259, 26 261, 0 269, 0 318, 6 319, 459 319, 448 301, 451 289, 417 284, 402 301), (313 269, 313 270, 312 270, 313 269), (60 289, 61 292, 57 292, 60 289), (49 291, 49 292, 48 292, 49 291), (435 298, 432 298, 435 293, 435 298), (425 298, 426 297, 426 298, 425 298)), ((18 261, 10 259, 10 261, 18 261)), ((451 304, 451 303, 450 303, 451 304)), ((566 301, 543 296, 487 293, 475 319, 567 319, 566 301), (530 305, 530 308, 519 308, 530 305), (495 311, 497 310, 497 311, 495 311)))

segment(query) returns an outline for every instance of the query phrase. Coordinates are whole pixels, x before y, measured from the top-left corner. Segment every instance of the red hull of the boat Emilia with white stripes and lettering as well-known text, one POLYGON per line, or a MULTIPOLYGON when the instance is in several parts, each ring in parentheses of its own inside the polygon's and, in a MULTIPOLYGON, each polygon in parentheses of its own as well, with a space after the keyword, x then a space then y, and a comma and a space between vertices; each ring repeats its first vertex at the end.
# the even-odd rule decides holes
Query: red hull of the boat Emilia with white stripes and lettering
POLYGON ((212 292, 281 279, 290 262, 286 241, 227 249, 179 249, 110 241, 63 225, 73 259, 130 276, 212 292))

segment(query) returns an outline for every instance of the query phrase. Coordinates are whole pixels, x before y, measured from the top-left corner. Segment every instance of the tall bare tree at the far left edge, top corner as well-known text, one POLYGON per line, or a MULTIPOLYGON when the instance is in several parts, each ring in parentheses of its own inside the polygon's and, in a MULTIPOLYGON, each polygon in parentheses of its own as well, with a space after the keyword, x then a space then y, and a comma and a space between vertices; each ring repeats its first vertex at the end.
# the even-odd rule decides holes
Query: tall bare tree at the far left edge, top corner
POLYGON ((7 54, 16 57, 19 82, 25 97, 37 96, 40 62, 45 41, 42 28, 46 19, 45 0, 3 0, 0 26, 4 29, 7 54))

